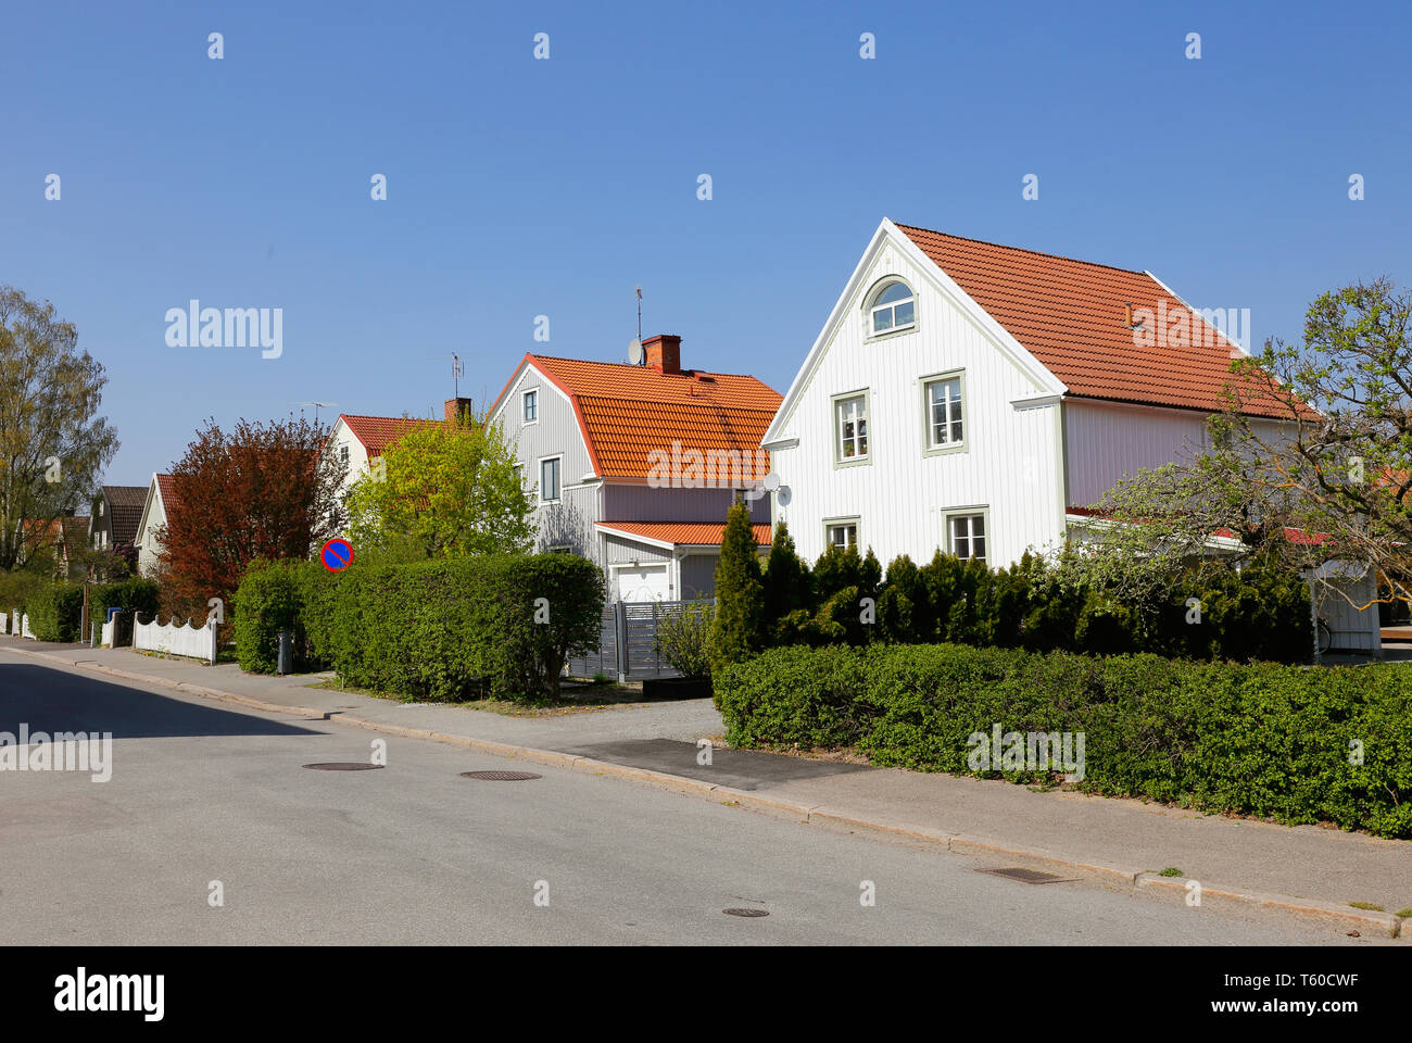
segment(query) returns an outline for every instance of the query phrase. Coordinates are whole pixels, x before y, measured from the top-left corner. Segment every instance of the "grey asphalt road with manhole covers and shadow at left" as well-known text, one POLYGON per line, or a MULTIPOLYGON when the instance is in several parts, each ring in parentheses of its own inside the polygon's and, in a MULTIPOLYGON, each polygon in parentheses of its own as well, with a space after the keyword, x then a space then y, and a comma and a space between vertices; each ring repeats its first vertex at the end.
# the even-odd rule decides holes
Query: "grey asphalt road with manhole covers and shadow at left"
POLYGON ((112 732, 113 772, 0 770, 8 943, 1375 944, 0 652, 0 731, 21 722, 112 732), (383 769, 302 767, 374 741, 383 769))

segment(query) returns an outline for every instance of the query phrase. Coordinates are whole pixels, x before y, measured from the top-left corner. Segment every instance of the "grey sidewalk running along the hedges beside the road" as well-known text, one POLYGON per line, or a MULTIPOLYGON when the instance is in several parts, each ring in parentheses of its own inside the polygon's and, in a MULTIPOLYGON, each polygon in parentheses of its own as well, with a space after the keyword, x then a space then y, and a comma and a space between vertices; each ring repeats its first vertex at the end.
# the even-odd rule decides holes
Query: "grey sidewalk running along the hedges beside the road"
POLYGON ((714 749, 712 763, 700 765, 698 739, 724 731, 709 700, 515 718, 311 688, 306 677, 243 674, 233 664, 208 667, 128 649, 40 644, 8 636, 0 637, 0 649, 233 698, 265 711, 328 715, 388 733, 620 774, 795 821, 885 834, 990 861, 1096 878, 1123 889, 1149 889, 1173 902, 1182 902, 1187 882, 1197 880, 1203 904, 1258 904, 1323 917, 1343 931, 1412 940, 1412 920, 1404 933, 1394 916, 1412 907, 1409 841, 754 750, 714 749), (1183 875, 1156 875, 1168 866, 1183 875), (1351 902, 1387 912, 1358 910, 1351 902))

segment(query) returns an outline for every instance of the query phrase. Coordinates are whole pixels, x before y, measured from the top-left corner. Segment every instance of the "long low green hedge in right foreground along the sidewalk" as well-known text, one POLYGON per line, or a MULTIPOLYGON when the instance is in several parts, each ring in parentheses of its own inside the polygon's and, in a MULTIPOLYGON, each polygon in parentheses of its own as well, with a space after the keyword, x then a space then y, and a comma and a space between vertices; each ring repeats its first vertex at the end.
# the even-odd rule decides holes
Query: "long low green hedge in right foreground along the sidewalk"
POLYGON ((960 644, 782 647, 714 678, 733 746, 973 770, 974 733, 1083 733, 1082 789, 1412 837, 1412 671, 960 644), (1360 760, 1361 763, 1351 763, 1360 760))

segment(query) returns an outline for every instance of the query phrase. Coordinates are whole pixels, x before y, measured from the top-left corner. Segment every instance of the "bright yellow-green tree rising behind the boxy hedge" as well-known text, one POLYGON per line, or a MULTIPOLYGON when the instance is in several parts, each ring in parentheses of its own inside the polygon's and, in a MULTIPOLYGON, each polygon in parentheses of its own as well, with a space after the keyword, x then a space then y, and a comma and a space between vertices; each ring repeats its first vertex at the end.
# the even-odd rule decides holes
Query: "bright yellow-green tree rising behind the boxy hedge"
POLYGON ((534 500, 515 458, 484 417, 428 421, 402 434, 349 490, 354 547, 412 558, 524 553, 534 500))

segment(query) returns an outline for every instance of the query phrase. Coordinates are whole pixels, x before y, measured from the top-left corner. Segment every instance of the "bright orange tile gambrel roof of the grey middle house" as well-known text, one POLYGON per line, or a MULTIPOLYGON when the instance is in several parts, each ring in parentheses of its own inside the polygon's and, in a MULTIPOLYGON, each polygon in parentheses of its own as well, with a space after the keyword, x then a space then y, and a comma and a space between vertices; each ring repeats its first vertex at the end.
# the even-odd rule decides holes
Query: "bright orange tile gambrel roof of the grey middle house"
MULTIPOLYGON (((527 355, 525 362, 569 396, 593 471, 603 478, 647 478, 648 454, 671 454, 674 441, 683 451, 753 454, 781 400, 768 384, 736 373, 664 375, 651 366, 548 355, 527 355)), ((508 390, 505 384, 491 411, 508 390)))

